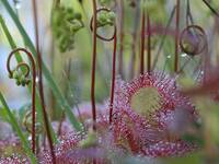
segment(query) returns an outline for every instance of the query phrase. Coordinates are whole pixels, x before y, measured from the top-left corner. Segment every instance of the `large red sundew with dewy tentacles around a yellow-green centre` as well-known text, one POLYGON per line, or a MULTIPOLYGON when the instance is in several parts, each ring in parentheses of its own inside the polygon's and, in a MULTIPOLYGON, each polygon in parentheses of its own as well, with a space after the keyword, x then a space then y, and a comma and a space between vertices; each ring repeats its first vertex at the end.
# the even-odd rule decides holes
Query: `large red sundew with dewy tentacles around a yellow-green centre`
POLYGON ((113 128, 134 148, 132 153, 172 156, 197 149, 196 143, 182 141, 178 133, 187 122, 181 117, 187 120, 189 116, 193 120, 196 114, 189 99, 178 92, 175 80, 165 74, 146 73, 131 82, 117 84, 115 110, 120 119, 115 120, 118 126, 113 128))

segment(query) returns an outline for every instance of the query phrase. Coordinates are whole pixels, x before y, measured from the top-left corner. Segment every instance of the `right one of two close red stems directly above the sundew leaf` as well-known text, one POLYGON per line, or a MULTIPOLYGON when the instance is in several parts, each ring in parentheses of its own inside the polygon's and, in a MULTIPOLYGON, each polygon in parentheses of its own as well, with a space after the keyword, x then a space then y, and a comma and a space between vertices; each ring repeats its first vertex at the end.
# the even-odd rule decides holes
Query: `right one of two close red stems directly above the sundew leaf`
POLYGON ((151 71, 151 27, 150 16, 147 14, 147 33, 148 33, 148 72, 151 71))

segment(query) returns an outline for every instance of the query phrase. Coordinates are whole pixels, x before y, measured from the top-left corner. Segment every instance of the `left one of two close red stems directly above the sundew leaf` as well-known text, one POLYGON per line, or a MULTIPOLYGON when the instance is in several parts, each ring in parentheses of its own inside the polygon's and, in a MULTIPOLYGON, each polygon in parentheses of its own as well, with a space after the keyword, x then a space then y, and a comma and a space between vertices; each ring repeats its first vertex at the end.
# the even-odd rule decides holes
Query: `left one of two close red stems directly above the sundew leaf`
POLYGON ((140 74, 143 74, 145 72, 145 27, 146 27, 146 15, 143 10, 141 20, 140 74))

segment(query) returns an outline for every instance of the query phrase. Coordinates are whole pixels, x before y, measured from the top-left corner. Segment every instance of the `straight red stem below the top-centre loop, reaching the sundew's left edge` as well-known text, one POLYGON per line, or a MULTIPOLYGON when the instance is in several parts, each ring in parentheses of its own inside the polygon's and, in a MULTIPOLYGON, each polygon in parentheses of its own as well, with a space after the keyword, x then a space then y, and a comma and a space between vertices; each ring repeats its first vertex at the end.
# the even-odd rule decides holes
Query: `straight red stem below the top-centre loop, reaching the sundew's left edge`
POLYGON ((117 32, 115 28, 114 34, 114 49, 113 49, 113 68, 112 68, 112 82, 111 82, 111 104, 110 104, 110 124, 113 118, 113 104, 114 104, 114 91, 115 91, 115 78, 116 78, 116 46, 117 46, 117 32))

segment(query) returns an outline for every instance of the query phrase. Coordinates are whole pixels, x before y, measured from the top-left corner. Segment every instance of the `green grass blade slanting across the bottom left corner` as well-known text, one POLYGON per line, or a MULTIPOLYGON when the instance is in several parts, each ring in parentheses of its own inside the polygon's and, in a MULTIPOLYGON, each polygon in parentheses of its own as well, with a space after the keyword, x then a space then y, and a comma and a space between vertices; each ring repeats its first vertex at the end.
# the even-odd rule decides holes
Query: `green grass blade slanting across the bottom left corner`
POLYGON ((7 113, 8 117, 9 117, 8 119, 10 120, 11 126, 13 127, 13 129, 15 129, 16 134, 18 134, 18 137, 19 137, 20 140, 21 140, 22 145, 23 145, 23 148, 24 148, 24 150, 25 150, 27 156, 28 156, 30 160, 31 160, 31 163, 32 163, 32 164, 36 164, 36 157, 35 157, 35 155, 32 153, 32 150, 30 149, 30 144, 28 144, 26 138, 24 137, 22 130, 20 129, 19 124, 16 122, 15 117, 14 117, 13 114, 11 113, 11 110, 10 110, 10 108, 9 108, 9 106, 8 106, 8 104, 7 104, 7 102, 5 102, 5 99, 4 99, 4 97, 3 97, 3 95, 2 95, 1 92, 0 92, 0 102, 1 102, 1 104, 2 104, 2 106, 3 106, 3 108, 5 109, 5 113, 7 113))

